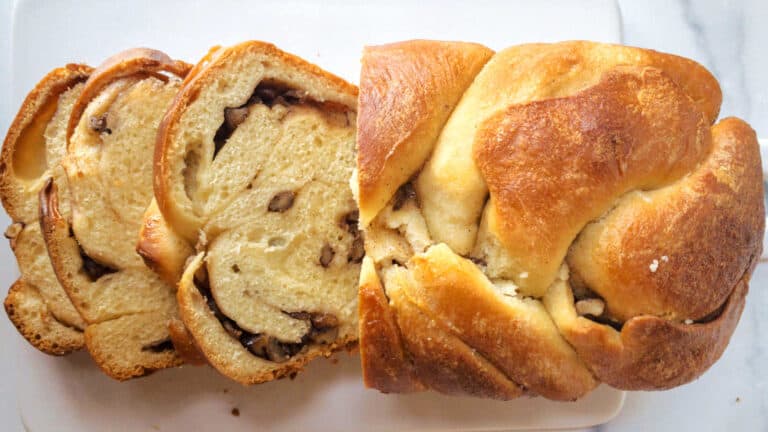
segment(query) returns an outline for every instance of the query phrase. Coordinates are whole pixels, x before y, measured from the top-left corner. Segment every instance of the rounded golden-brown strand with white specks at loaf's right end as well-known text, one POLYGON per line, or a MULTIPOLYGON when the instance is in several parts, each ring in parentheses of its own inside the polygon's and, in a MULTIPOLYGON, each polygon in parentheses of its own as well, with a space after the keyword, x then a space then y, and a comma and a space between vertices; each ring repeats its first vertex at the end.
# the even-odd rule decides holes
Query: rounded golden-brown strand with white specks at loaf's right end
POLYGON ((760 254, 765 218, 755 133, 729 118, 712 128, 711 141, 688 176, 626 197, 571 246, 571 269, 615 318, 702 319, 760 254))

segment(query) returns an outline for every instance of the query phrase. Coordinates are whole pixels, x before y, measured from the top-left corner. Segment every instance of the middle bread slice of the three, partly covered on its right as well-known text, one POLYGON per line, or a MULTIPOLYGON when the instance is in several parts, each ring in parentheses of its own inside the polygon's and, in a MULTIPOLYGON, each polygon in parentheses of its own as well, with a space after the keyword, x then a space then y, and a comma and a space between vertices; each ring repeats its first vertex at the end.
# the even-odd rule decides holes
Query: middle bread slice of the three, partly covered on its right
POLYGON ((49 182, 42 226, 56 276, 83 316, 99 367, 124 380, 180 364, 168 321, 174 287, 135 252, 152 199, 152 154, 160 120, 189 66, 133 49, 106 60, 85 83, 69 118, 62 160, 67 194, 49 182))

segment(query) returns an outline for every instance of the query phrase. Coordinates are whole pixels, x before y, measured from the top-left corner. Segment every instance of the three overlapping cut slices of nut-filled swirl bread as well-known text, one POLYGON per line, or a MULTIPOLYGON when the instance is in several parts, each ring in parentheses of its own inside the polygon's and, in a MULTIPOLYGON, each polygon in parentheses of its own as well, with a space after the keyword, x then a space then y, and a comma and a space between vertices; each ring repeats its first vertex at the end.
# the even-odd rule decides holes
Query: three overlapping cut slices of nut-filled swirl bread
POLYGON ((52 72, 3 153, 12 320, 121 380, 208 362, 257 383, 352 346, 356 104, 262 42, 194 68, 133 49, 52 72))

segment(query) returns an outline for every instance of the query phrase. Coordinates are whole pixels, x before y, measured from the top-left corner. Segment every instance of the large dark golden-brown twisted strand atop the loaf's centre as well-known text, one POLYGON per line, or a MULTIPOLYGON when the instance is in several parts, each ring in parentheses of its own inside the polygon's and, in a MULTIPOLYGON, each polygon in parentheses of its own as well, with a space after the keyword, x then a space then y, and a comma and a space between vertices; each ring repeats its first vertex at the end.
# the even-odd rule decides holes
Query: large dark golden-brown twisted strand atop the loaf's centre
POLYGON ((516 283, 536 296, 589 221, 631 190, 687 174, 711 143, 701 112, 650 68, 617 68, 570 97, 512 105, 479 129, 474 157, 496 235, 528 272, 516 283))

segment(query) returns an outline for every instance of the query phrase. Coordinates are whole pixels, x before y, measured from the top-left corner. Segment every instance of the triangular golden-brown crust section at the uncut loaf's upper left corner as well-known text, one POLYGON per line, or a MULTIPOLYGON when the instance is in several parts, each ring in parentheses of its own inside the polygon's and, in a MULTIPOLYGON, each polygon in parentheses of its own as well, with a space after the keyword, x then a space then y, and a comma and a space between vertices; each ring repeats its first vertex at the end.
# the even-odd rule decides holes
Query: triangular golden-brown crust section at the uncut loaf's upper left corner
POLYGON ((424 164, 459 98, 492 55, 466 42, 416 40, 365 48, 357 117, 363 226, 424 164), (382 111, 390 115, 381 116, 382 111))

